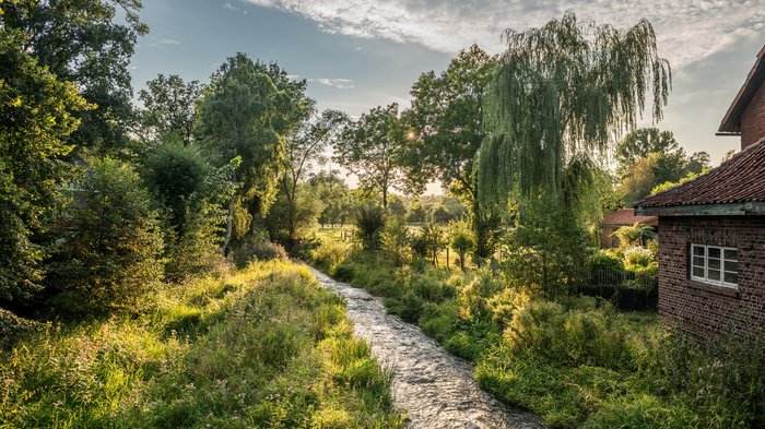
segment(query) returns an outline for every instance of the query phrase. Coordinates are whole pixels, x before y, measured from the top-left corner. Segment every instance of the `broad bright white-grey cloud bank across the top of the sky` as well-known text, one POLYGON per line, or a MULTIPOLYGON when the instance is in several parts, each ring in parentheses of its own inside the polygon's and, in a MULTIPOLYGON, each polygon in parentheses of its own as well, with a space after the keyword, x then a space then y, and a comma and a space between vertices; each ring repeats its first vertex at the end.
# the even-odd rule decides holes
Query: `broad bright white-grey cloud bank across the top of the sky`
POLYGON ((523 29, 574 11, 617 27, 646 17, 660 53, 675 67, 708 56, 741 37, 761 37, 765 0, 244 0, 317 22, 328 33, 415 43, 456 52, 478 43, 502 50, 502 32, 523 29))

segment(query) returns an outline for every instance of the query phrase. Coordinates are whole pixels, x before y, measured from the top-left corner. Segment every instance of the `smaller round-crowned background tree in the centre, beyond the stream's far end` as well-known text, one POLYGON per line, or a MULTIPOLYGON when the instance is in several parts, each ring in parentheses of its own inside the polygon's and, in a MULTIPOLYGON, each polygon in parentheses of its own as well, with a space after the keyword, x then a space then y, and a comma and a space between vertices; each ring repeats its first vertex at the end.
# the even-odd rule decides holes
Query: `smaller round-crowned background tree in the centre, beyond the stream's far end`
POLYGON ((358 176, 363 187, 379 192, 387 208, 391 188, 413 188, 403 163, 408 142, 399 121, 399 105, 378 106, 349 124, 334 145, 336 159, 358 176))

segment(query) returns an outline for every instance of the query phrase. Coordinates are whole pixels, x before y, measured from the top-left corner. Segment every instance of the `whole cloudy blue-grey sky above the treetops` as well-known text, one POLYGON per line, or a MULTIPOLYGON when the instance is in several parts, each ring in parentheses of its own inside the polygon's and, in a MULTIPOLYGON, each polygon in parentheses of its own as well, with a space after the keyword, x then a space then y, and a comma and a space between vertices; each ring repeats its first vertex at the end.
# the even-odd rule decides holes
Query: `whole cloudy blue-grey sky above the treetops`
POLYGON ((358 116, 408 106, 420 74, 444 70, 459 50, 478 44, 499 53, 505 29, 567 11, 622 28, 647 19, 673 74, 657 127, 686 152, 709 153, 714 165, 739 148, 738 138, 715 132, 765 45, 765 0, 145 0, 151 32, 136 48, 133 87, 158 73, 208 82, 243 51, 307 80, 319 108, 358 116))

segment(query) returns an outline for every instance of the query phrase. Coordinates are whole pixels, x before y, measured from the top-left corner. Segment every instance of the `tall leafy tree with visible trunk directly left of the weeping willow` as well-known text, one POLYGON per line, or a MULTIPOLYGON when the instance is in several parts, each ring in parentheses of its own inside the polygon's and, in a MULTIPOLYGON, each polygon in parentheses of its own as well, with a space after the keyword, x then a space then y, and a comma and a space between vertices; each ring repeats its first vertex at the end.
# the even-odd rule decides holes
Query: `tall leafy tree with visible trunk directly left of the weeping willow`
POLYGON ((403 112, 413 140, 407 162, 420 166, 412 171, 438 178, 470 208, 479 263, 493 251, 496 216, 479 205, 473 165, 485 138, 483 102, 496 65, 497 58, 476 45, 460 51, 440 74, 420 76, 410 92, 412 107, 403 112))

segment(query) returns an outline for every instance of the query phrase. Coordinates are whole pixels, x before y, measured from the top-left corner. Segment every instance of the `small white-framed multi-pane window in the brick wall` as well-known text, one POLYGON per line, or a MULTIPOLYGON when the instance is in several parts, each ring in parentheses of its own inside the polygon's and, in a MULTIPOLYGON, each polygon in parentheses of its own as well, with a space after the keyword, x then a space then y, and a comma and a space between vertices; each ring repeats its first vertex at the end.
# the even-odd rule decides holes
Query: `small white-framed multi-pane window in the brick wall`
POLYGON ((691 279, 738 287, 739 250, 719 246, 691 245, 691 279))

